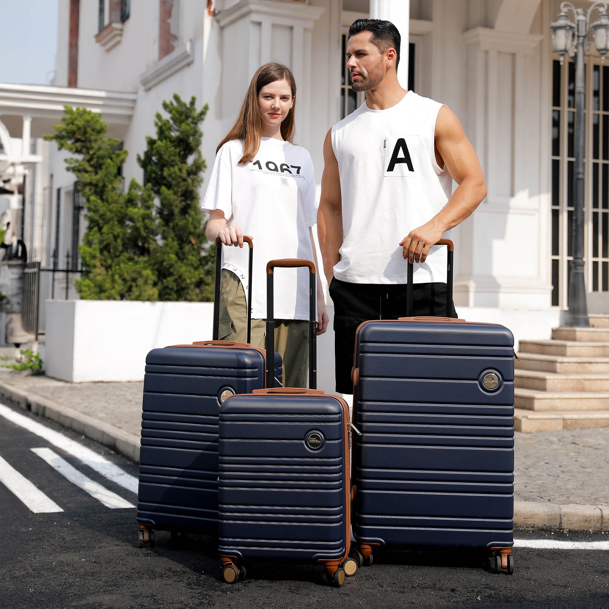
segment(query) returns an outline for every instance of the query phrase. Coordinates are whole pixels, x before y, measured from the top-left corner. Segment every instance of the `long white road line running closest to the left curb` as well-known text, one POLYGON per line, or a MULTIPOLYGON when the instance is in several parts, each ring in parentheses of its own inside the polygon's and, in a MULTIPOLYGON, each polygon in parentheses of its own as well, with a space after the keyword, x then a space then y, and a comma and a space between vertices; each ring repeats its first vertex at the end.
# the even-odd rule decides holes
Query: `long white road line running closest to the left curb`
POLYGON ((135 476, 128 474, 118 465, 104 459, 104 457, 98 455, 90 448, 86 448, 86 446, 82 446, 78 442, 70 440, 70 438, 65 435, 60 434, 53 429, 49 429, 41 423, 37 423, 28 417, 24 417, 24 415, 20 415, 18 412, 15 412, 3 404, 0 404, 0 415, 9 421, 12 421, 12 423, 27 429, 27 431, 40 435, 41 438, 51 442, 51 444, 54 444, 57 448, 69 452, 69 454, 77 457, 77 459, 80 459, 85 465, 88 465, 90 468, 97 471, 97 473, 102 474, 102 476, 106 477, 108 480, 116 482, 116 484, 121 485, 121 487, 126 488, 136 495, 138 494, 138 479, 135 476))

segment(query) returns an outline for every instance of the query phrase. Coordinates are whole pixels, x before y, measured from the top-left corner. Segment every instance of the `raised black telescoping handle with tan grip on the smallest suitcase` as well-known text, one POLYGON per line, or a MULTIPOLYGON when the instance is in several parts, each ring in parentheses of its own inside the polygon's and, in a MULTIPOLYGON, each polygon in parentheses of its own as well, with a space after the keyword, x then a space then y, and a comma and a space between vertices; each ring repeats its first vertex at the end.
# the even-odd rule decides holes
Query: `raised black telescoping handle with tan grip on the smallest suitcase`
MULTIPOLYGON (((271 260, 267 264, 267 325, 266 325, 266 377, 267 387, 275 385, 275 312, 273 309, 273 270, 276 267, 309 269, 309 389, 317 389, 317 317, 315 316, 315 264, 310 260, 286 258, 271 260)), ((281 388, 278 388, 281 389, 281 388)))

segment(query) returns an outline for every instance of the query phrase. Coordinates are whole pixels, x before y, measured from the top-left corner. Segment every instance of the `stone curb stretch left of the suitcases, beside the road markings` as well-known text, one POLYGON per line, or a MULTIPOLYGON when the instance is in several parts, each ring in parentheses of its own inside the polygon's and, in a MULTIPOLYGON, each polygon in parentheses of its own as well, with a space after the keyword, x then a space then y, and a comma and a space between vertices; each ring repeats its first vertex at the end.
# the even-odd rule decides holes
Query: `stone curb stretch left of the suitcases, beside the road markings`
MULTIPOLYGON (((83 415, 68 406, 55 404, 33 393, 28 393, 11 385, 0 382, 0 396, 17 404, 23 410, 46 417, 62 424, 72 431, 108 446, 122 456, 139 463, 139 438, 127 431, 118 429, 108 423, 83 415)), ((607 512, 609 518, 609 512, 607 512)))

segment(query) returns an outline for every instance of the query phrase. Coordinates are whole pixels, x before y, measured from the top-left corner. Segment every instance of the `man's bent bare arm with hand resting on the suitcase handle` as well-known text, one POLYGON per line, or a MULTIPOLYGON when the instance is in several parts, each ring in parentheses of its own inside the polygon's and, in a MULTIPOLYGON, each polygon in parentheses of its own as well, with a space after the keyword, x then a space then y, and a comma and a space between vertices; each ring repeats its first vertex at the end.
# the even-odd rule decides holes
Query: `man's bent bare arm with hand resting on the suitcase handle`
POLYGON ((482 168, 476 150, 463 133, 452 110, 442 106, 435 122, 435 157, 440 167, 446 164, 452 179, 459 185, 445 207, 427 224, 410 231, 400 245, 410 262, 424 262, 429 248, 442 239, 443 233, 471 216, 487 195, 482 168))

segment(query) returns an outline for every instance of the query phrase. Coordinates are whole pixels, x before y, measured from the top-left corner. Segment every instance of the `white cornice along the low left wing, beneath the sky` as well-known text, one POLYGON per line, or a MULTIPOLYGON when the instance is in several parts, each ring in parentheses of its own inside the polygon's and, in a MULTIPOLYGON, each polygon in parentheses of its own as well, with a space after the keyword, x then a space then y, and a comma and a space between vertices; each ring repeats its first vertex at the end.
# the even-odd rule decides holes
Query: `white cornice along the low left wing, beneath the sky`
POLYGON ((0 83, 0 114, 60 119, 67 105, 100 112, 110 124, 128 124, 135 100, 135 93, 0 83))

